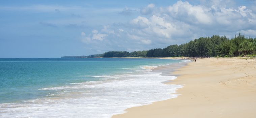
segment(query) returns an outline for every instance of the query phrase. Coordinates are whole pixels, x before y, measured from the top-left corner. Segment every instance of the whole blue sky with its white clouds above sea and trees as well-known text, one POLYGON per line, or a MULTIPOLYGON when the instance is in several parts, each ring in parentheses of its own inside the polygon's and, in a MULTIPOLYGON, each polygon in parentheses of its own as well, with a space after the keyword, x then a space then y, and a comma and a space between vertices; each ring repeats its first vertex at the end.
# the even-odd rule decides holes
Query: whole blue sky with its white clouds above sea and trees
POLYGON ((256 37, 256 0, 1 0, 0 58, 142 51, 256 37))

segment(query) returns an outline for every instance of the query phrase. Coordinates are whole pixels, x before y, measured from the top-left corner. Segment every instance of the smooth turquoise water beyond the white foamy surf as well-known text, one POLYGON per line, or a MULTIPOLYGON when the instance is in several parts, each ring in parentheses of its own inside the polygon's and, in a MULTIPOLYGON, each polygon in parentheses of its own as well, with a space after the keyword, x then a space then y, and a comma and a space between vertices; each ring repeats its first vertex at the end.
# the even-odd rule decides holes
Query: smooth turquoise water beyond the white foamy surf
POLYGON ((70 83, 97 81, 93 76, 130 72, 140 65, 177 62, 164 59, 0 59, 0 103, 44 97, 49 91, 38 90, 70 83), (127 70, 125 68, 131 68, 127 70))

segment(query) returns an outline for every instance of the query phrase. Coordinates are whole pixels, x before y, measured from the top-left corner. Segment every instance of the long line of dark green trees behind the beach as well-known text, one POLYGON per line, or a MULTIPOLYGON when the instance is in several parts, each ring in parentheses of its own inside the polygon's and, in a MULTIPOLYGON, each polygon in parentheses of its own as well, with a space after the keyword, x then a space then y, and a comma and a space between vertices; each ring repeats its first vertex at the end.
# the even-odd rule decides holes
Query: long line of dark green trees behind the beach
POLYGON ((156 48, 131 53, 109 51, 104 54, 85 57, 236 57, 252 54, 256 54, 256 38, 248 38, 239 33, 232 39, 226 36, 213 35, 212 37, 196 38, 181 45, 170 45, 163 49, 156 48))

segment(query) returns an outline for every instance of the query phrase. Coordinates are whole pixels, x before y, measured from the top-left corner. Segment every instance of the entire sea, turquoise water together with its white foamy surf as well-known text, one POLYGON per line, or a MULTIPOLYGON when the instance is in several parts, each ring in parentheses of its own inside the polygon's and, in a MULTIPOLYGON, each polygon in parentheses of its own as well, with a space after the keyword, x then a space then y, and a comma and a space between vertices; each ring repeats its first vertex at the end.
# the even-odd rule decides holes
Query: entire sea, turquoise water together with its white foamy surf
POLYGON ((182 60, 145 58, 2 58, 1 118, 110 118, 177 97, 175 76, 152 68, 182 60))

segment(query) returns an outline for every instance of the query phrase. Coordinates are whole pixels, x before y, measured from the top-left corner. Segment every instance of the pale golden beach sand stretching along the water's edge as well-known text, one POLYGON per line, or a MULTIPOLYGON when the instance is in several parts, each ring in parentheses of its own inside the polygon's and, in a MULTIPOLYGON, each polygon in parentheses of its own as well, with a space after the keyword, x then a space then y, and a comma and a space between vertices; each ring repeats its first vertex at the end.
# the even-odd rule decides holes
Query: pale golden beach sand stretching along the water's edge
POLYGON ((174 72, 166 68, 156 70, 179 75, 167 84, 184 85, 177 98, 129 108, 113 118, 256 118, 256 59, 205 58, 174 72))

